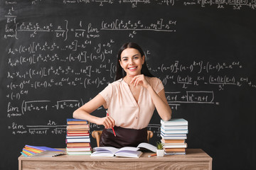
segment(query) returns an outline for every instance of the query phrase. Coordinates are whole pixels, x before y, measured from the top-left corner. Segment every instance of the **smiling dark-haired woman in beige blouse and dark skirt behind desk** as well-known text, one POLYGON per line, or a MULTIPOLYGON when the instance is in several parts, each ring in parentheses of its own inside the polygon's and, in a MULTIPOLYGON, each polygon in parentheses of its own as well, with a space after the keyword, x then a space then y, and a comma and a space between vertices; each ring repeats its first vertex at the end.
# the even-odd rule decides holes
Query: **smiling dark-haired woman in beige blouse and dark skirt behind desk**
POLYGON ((78 108, 73 117, 105 126, 100 146, 137 147, 139 143, 147 141, 146 127, 155 108, 161 119, 171 119, 164 86, 150 74, 144 52, 134 42, 125 43, 120 48, 115 80, 78 108), (98 118, 90 115, 102 105, 107 108, 109 116, 98 118), (116 137, 112 132, 113 127, 116 137))

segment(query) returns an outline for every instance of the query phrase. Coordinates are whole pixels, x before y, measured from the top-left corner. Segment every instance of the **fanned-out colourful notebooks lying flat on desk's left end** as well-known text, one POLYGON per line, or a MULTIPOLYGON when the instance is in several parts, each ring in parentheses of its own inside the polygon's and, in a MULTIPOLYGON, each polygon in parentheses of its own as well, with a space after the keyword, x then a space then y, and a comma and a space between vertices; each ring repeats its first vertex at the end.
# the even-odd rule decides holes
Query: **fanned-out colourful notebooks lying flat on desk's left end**
POLYGON ((55 157, 64 153, 65 152, 63 150, 51 147, 37 147, 31 145, 25 145, 21 152, 25 157, 55 157))

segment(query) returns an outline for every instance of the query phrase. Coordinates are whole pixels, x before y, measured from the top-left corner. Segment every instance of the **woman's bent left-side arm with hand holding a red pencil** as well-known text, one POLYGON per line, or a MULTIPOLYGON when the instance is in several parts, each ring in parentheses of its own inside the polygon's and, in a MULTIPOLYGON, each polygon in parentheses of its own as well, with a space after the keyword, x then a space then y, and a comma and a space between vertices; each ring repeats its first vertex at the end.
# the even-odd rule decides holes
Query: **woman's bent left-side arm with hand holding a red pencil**
POLYGON ((100 94, 98 94, 97 96, 95 96, 95 98, 92 98, 92 100, 88 101, 87 103, 85 103, 85 105, 74 111, 73 118, 88 120, 90 123, 104 125, 105 128, 112 128, 114 127, 114 119, 112 119, 110 116, 98 118, 94 115, 90 115, 90 113, 95 111, 104 103, 106 103, 105 99, 100 94))

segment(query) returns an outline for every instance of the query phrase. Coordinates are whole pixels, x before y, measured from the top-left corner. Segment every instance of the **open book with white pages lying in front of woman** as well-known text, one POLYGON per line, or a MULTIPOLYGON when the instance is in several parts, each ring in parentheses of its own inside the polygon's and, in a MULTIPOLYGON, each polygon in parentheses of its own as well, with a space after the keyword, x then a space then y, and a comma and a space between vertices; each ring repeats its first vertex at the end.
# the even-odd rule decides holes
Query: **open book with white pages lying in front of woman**
POLYGON ((151 152, 156 152, 156 147, 148 143, 140 143, 137 147, 122 147, 120 149, 115 147, 94 147, 94 152, 91 157, 135 157, 142 155, 139 149, 149 149, 151 152))

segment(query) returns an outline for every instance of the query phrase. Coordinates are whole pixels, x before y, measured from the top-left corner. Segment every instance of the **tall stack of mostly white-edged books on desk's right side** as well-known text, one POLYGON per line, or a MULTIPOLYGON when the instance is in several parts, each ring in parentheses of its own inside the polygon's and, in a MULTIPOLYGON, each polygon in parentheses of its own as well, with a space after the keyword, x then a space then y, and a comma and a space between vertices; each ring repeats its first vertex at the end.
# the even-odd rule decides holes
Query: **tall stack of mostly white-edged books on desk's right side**
POLYGON ((161 120, 161 142, 165 154, 186 154, 185 142, 188 134, 188 121, 183 118, 161 120))

